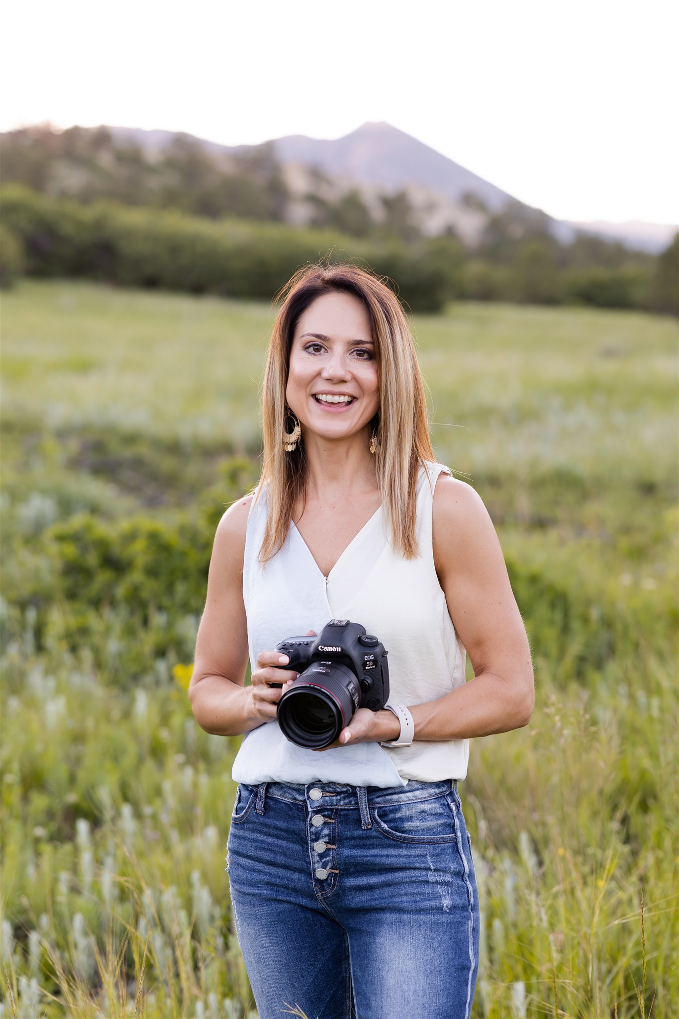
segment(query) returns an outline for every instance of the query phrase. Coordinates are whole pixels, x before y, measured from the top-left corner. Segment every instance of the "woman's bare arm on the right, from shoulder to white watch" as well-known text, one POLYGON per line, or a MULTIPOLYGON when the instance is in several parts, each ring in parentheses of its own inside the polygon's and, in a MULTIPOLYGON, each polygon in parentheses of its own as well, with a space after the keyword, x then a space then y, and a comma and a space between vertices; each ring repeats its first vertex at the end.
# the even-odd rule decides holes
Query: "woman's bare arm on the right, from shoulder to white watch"
POLYGON ((434 561, 474 678, 410 706, 415 739, 465 739, 526 726, 534 703, 530 648, 500 541, 480 496, 447 475, 439 476, 434 493, 434 561))

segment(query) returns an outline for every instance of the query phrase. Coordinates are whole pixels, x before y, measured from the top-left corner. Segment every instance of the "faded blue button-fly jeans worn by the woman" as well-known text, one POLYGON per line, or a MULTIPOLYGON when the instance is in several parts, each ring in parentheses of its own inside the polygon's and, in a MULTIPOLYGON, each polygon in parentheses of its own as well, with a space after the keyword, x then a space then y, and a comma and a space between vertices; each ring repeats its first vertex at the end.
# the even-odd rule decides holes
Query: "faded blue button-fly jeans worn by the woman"
POLYGON ((241 784, 227 849, 260 1019, 468 1019, 478 901, 455 782, 241 784))

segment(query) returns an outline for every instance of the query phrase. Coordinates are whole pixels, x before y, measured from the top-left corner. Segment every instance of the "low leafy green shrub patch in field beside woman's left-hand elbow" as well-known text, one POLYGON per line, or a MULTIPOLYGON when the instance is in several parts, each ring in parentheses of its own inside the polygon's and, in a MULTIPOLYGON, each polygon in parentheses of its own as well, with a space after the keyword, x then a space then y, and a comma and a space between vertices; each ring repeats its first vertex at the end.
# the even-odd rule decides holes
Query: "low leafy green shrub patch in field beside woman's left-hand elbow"
POLYGON ((227 460, 191 512, 170 519, 75 513, 27 535, 14 528, 4 564, 12 602, 0 602, 2 648, 26 633, 37 649, 74 653, 84 645, 122 686, 153 675, 158 659, 190 660, 215 529, 259 470, 257 461, 227 460))

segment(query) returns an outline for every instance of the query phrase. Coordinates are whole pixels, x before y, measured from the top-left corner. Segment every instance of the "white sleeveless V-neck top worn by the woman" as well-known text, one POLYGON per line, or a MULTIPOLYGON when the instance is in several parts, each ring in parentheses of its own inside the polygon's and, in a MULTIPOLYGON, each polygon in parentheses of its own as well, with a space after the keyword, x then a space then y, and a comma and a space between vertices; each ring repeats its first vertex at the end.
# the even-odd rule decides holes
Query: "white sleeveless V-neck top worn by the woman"
MULTIPOLYGON (((448 612, 434 567, 432 508, 441 464, 426 464, 417 483, 419 556, 397 555, 388 540, 382 507, 344 549, 326 578, 294 524, 281 550, 258 560, 267 522, 266 491, 252 500, 245 537, 243 600, 250 663, 286 637, 321 633, 331 619, 360 623, 389 652, 389 702, 422 704, 465 682, 466 652, 448 612)), ((409 747, 356 743, 316 751, 290 743, 277 721, 243 738, 233 764, 234 782, 351 786, 404 786, 408 779, 464 779, 468 740, 417 741, 409 747)))

